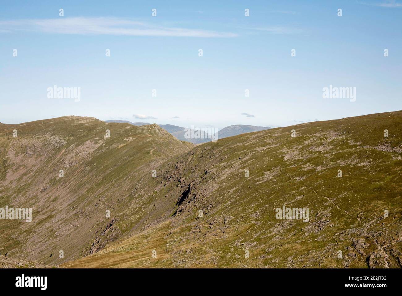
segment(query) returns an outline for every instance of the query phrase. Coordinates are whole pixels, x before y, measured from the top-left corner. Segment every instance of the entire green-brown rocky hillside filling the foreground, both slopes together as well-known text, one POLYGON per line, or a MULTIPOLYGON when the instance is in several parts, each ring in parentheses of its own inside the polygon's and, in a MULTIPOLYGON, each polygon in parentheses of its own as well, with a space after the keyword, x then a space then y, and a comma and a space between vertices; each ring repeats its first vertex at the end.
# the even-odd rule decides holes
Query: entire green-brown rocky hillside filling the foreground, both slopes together
POLYGON ((398 111, 193 148, 154 124, 2 124, 1 205, 33 221, 0 220, 0 252, 60 267, 401 267, 401 126, 398 111), (283 206, 309 221, 276 219, 283 206))

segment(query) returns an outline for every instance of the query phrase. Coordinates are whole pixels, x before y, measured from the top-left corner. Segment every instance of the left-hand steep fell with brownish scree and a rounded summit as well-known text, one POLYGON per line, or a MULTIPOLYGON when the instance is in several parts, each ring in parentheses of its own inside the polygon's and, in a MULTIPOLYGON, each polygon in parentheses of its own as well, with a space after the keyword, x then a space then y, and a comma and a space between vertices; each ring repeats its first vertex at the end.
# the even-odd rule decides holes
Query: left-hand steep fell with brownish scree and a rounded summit
MULTIPOLYGON (((130 230, 127 221, 120 227, 119 214, 147 198, 137 189, 141 178, 192 147, 156 124, 77 116, 1 124, 0 208, 32 208, 33 217, 0 219, 0 253, 48 264, 102 248, 130 230)), ((141 205, 135 210, 151 215, 141 205)))

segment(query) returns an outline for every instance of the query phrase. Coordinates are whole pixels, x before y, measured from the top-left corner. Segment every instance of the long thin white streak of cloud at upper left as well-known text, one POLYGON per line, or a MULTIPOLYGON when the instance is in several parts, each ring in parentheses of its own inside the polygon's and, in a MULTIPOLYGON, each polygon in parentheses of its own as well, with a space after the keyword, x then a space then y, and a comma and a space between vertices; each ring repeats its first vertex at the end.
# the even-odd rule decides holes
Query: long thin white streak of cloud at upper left
POLYGON ((162 27, 113 17, 60 17, 0 21, 0 32, 34 31, 78 35, 130 35, 172 37, 236 37, 235 33, 201 29, 162 27))

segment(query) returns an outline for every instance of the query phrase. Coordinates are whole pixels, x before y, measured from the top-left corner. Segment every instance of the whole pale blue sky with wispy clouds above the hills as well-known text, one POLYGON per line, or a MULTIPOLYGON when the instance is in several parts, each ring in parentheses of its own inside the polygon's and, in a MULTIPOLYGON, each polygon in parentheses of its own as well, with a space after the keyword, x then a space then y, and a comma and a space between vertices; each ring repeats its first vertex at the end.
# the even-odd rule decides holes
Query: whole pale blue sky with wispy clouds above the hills
POLYGON ((78 115, 222 128, 401 110, 401 3, 2 2, 0 121, 78 115), (80 101, 48 98, 53 85, 80 87, 80 101), (329 85, 355 87, 356 101, 323 98, 329 85))

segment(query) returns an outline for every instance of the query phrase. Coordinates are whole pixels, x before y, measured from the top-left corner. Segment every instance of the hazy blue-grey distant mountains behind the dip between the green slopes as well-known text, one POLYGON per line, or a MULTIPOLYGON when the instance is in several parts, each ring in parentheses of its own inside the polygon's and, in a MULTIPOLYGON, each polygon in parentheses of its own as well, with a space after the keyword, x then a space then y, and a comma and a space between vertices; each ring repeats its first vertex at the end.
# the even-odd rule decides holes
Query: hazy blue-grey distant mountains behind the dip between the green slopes
MULTIPOLYGON (((124 123, 129 123, 132 125, 136 125, 136 126, 150 124, 149 122, 129 122, 128 120, 105 120, 105 122, 124 122, 124 123)), ((222 139, 222 138, 233 137, 233 136, 237 136, 240 134, 244 134, 246 132, 257 132, 260 130, 270 129, 270 127, 266 127, 266 126, 235 124, 235 125, 230 125, 230 126, 226 126, 225 128, 222 128, 222 130, 219 130, 215 135, 213 135, 213 137, 211 137, 211 135, 208 135, 207 132, 201 131, 199 138, 188 139, 185 137, 187 129, 182 126, 176 126, 176 125, 172 125, 172 124, 159 124, 159 126, 161 128, 163 128, 164 130, 167 130, 168 132, 170 132, 170 134, 172 134, 174 137, 176 137, 180 141, 187 141, 187 142, 191 142, 193 144, 202 144, 202 143, 207 143, 207 142, 211 141, 211 139, 222 139)), ((196 132, 196 130, 194 132, 196 132)))

